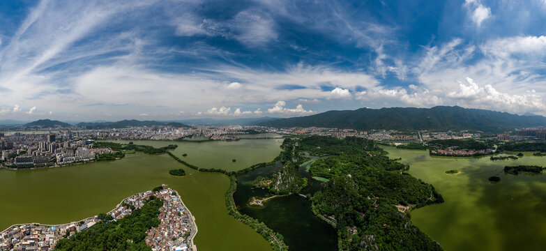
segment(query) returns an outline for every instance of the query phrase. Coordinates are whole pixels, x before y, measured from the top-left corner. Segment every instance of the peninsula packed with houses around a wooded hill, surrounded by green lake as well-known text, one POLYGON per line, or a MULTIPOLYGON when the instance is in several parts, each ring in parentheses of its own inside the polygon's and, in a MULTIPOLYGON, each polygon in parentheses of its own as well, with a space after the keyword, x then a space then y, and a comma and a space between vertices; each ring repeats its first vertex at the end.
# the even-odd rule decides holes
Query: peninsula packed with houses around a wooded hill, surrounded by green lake
POLYGON ((196 251, 196 235, 195 218, 178 192, 161 185, 123 199, 108 213, 76 222, 8 227, 0 232, 0 250, 74 250, 93 244, 103 250, 196 251), (114 232, 125 236, 117 238, 119 241, 100 241, 114 232))

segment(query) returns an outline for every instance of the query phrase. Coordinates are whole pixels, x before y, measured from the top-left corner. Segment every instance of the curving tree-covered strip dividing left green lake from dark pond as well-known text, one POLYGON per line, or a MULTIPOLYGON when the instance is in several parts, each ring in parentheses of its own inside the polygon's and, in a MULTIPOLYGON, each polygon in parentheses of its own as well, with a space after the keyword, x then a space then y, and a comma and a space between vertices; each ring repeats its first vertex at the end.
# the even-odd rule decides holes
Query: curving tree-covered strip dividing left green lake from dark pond
POLYGON ((259 222, 248 215, 243 215, 237 210, 237 206, 235 205, 235 201, 233 199, 233 193, 237 189, 237 178, 235 178, 235 176, 229 176, 229 181, 229 190, 226 192, 226 206, 229 215, 232 215, 245 225, 252 227, 252 229, 255 229, 259 234, 261 234, 261 236, 264 236, 264 238, 266 238, 266 240, 271 244, 271 247, 273 247, 273 250, 288 250, 288 246, 286 245, 284 237, 282 237, 281 234, 275 233, 275 231, 267 227, 264 222, 259 222))

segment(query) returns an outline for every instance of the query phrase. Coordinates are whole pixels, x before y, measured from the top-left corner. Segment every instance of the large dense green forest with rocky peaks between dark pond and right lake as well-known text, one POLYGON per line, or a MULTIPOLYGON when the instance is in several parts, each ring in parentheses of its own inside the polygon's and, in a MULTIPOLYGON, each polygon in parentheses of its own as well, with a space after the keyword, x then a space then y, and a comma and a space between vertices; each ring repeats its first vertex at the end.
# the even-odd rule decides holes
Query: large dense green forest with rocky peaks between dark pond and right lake
POLYGON ((443 198, 432 185, 405 173, 373 141, 356 137, 306 137, 298 151, 325 158, 310 167, 328 178, 312 196, 312 210, 338 229, 340 250, 441 250, 411 224, 398 206, 426 206, 443 198))

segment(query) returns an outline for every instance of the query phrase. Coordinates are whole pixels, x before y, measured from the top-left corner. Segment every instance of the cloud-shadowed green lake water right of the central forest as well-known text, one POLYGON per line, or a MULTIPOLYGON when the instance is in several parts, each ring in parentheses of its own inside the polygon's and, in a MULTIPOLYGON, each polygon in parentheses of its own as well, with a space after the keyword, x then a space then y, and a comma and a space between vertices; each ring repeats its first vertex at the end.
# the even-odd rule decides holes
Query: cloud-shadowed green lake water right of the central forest
POLYGON ((506 165, 546 166, 546 157, 519 160, 431 157, 427 151, 385 148, 434 185, 445 202, 411 211, 411 222, 445 250, 544 250, 546 174, 503 174, 506 165), (461 174, 446 174, 457 169, 461 174), (499 174, 499 183, 490 176, 499 174))

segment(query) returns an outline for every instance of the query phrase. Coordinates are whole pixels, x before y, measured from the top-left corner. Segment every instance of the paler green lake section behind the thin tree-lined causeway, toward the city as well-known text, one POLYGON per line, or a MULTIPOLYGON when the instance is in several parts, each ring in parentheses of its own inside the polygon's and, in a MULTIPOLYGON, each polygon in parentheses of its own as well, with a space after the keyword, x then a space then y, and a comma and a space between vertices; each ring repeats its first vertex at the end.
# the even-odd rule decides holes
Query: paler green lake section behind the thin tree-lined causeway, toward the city
POLYGON ((260 162, 269 162, 280 153, 283 139, 241 139, 238 141, 169 142, 157 140, 112 140, 112 142, 143 144, 148 146, 179 147, 172 153, 199 168, 219 168, 226 171, 245 169, 260 162), (188 156, 183 157, 183 153, 188 156), (233 162, 232 160, 236 160, 233 162))

